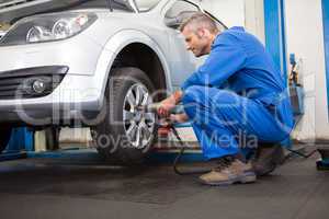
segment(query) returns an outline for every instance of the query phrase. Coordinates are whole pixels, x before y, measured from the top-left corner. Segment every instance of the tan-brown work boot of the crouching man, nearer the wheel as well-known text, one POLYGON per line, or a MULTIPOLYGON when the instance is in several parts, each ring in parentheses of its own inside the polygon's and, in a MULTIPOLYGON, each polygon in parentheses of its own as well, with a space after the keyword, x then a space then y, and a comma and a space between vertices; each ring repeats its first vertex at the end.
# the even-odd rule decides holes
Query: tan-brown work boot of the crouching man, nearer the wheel
POLYGON ((218 166, 209 173, 200 176, 201 183, 205 185, 230 185, 234 183, 253 183, 256 174, 250 164, 240 160, 226 157, 218 160, 218 166))

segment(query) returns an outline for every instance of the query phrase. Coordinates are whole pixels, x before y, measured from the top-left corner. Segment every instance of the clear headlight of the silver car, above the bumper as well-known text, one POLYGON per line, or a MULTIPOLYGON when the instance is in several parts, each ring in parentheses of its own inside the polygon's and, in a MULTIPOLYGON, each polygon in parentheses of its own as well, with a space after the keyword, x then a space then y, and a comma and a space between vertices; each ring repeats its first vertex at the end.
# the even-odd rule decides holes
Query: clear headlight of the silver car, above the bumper
POLYGON ((97 20, 94 13, 67 12, 23 19, 3 36, 0 45, 20 45, 72 37, 97 20))

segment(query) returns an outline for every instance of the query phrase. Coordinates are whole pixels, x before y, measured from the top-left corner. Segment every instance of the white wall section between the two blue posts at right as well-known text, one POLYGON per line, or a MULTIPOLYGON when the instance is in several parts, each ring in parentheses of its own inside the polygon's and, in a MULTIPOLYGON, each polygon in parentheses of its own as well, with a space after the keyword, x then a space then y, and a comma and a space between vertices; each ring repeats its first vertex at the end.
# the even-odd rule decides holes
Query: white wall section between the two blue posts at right
POLYGON ((329 139, 321 0, 285 0, 287 51, 300 58, 306 114, 294 136, 329 139))

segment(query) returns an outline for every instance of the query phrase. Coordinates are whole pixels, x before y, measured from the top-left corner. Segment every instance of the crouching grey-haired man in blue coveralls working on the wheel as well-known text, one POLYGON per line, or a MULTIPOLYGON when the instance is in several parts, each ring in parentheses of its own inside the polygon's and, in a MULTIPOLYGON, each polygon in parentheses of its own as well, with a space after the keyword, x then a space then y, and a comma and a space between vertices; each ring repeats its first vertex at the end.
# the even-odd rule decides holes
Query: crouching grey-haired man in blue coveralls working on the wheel
POLYGON ((265 160, 277 155, 275 143, 288 139, 293 127, 284 78, 264 46, 242 27, 220 32, 209 16, 196 13, 180 31, 188 50, 195 57, 208 57, 181 90, 160 103, 158 114, 174 122, 192 122, 204 157, 218 164, 200 176, 203 184, 252 183, 257 175, 273 170, 265 160), (170 114, 180 102, 184 114, 170 114), (258 172, 258 161, 252 165, 240 154, 261 151, 261 143, 270 150, 259 155, 258 160, 265 162, 258 172))

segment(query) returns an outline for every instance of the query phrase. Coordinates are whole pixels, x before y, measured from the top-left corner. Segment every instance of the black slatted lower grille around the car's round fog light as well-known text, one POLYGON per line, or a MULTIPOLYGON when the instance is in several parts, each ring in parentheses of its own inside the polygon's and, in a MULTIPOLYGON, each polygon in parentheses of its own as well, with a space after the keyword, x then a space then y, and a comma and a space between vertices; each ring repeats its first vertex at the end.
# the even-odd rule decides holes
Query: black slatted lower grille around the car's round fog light
POLYGON ((46 96, 59 85, 67 70, 67 67, 64 69, 60 67, 42 67, 0 72, 0 100, 46 96), (43 92, 34 91, 33 83, 35 81, 42 81, 45 84, 43 92))

